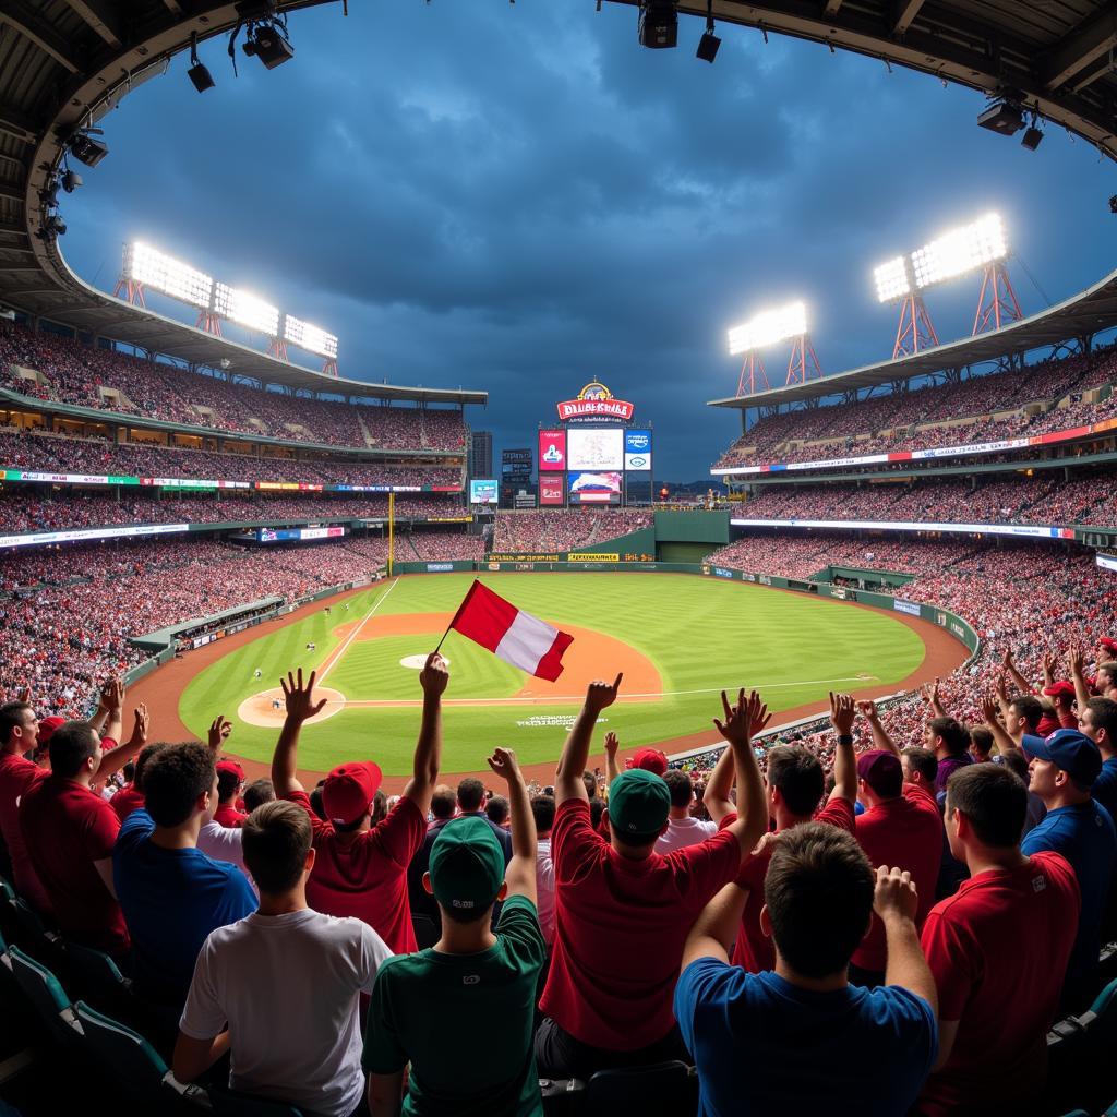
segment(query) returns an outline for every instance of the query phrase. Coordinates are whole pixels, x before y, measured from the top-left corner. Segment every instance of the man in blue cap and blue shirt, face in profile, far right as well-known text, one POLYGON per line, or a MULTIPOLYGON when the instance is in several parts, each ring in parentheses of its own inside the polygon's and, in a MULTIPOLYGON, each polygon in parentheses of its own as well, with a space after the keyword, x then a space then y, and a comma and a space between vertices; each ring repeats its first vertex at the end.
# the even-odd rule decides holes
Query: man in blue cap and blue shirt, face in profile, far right
POLYGON ((1101 753, 1078 729, 1057 729, 1049 737, 1024 734, 1022 745, 1030 758, 1029 790, 1043 800, 1048 813, 1024 836, 1020 848, 1029 856, 1043 850, 1061 853, 1082 894, 1078 937, 1062 989, 1062 1008, 1079 1012, 1098 992, 1101 920, 1117 860, 1114 821, 1090 793, 1101 771, 1101 753))

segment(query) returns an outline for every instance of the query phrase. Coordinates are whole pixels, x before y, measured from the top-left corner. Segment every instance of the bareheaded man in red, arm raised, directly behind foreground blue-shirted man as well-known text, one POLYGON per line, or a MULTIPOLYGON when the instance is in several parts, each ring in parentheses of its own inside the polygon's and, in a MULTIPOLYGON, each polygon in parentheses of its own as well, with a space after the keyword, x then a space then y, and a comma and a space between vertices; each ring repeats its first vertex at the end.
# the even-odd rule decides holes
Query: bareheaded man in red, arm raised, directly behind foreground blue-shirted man
MULTIPOLYGON (((767 791, 768 817, 775 820, 775 833, 811 821, 827 822, 850 834, 855 832, 857 760, 853 756, 851 731, 856 716, 857 710, 850 695, 830 695, 830 724, 838 734, 838 748, 834 753, 834 787, 821 810, 819 802, 825 780, 818 757, 802 745, 776 745, 768 750, 764 785, 767 791)), ((728 755, 727 748, 718 758, 705 795, 710 818, 723 828, 737 817, 729 802, 728 781, 733 776, 729 764, 725 763, 728 755)), ((735 966, 753 974, 775 967, 772 938, 761 929, 764 877, 772 860, 772 849, 771 841, 763 839, 737 873, 737 885, 747 895, 732 961, 735 966)))

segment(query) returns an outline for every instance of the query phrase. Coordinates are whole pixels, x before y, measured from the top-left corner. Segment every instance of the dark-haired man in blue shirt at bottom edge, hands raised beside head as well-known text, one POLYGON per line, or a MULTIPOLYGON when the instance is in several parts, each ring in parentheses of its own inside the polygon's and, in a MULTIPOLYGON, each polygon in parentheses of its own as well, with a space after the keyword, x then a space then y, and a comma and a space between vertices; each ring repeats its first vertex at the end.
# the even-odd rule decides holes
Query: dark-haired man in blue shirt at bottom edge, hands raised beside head
POLYGON ((761 928, 775 971, 728 964, 745 901, 736 884, 706 906, 682 954, 675 1015, 698 1066, 699 1114, 906 1113, 938 1051, 910 873, 873 875, 851 834, 819 822, 764 840, 773 851, 761 928), (885 985, 870 990, 850 985, 848 968, 873 910, 888 962, 885 985))

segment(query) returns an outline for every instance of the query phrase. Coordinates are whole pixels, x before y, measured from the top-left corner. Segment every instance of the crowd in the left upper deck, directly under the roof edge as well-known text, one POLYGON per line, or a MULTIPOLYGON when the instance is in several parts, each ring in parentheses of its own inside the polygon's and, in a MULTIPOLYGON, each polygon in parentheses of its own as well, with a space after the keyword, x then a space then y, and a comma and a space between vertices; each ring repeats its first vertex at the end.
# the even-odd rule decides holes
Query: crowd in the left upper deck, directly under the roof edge
POLYGON ((296 442, 393 450, 465 447, 460 411, 295 398, 21 326, 0 326, 0 383, 59 403, 296 442), (13 365, 41 379, 21 376, 13 365))

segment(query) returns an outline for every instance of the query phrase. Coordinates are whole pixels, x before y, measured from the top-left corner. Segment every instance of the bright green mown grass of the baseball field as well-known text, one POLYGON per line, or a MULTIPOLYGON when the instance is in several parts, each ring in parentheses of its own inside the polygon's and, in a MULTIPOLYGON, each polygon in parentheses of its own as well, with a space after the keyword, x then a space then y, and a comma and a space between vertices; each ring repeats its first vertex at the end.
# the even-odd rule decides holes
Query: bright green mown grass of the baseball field
MULTIPOLYGON (((321 666, 342 642, 331 629, 376 614, 449 613, 465 595, 471 574, 407 577, 261 637, 230 652, 187 687, 180 716, 202 734, 212 718, 232 716, 240 703, 275 686, 288 668, 321 666), (306 643, 317 645, 307 651, 306 643), (252 672, 260 668, 261 680, 252 672)), ((665 697, 617 705, 603 720, 624 747, 696 733, 719 712, 717 690, 757 687, 779 712, 824 698, 831 689, 886 686, 910 675, 924 646, 907 626, 881 613, 840 602, 780 593, 742 582, 671 574, 499 574, 484 581, 522 609, 557 624, 595 629, 624 641, 659 670, 665 697), (858 680, 858 676, 871 679, 858 680)), ((407 655, 429 651, 441 632, 357 639, 350 643, 326 685, 349 699, 418 698, 418 674, 400 666, 407 655)), ((451 661, 448 698, 507 698, 523 672, 451 632, 443 645, 451 661)), ((602 665, 602 674, 608 674, 602 665)), ((570 672, 567 672, 567 676, 570 672)), ((567 678, 564 676, 564 680, 567 678)), ((585 680, 570 679, 570 694, 585 680)), ((564 691, 565 693, 565 691, 564 691)), ((554 760, 570 705, 451 707, 445 714, 446 772, 474 771, 493 745, 513 745, 525 763, 554 760), (532 724, 524 724, 531 720, 532 724)), ((344 760, 374 757, 389 775, 410 771, 418 732, 414 708, 349 708, 303 731, 300 766, 328 770, 344 760)), ((266 761, 276 731, 237 723, 230 751, 266 761)))

